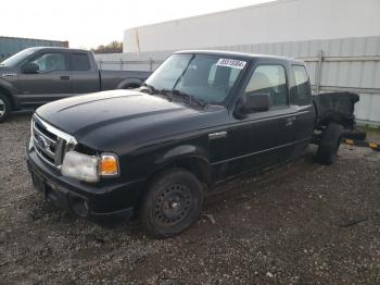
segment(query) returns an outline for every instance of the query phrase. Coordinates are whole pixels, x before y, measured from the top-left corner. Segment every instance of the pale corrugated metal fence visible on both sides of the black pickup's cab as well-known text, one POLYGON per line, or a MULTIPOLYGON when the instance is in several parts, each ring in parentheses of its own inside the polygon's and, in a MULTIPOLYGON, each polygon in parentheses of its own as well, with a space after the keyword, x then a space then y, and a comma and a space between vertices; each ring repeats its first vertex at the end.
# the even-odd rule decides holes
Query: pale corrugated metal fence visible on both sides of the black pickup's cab
MULTIPOLYGON (((312 85, 316 85, 318 71, 318 63, 315 59, 322 51, 325 61, 321 63, 320 71, 320 92, 351 90, 350 88, 357 89, 360 101, 356 106, 356 116, 358 120, 370 124, 380 124, 380 60, 376 58, 380 57, 380 36, 210 47, 210 49, 304 59, 308 67, 312 85), (338 60, 334 61, 333 57, 338 58, 338 60), (353 60, 354 57, 357 59, 353 60), (362 57, 373 57, 373 59, 360 60, 362 57)), ((156 67, 172 52, 97 54, 97 59, 101 59, 103 69, 119 70, 123 66, 125 70, 149 71, 152 65, 149 62, 150 60, 155 61, 153 67, 156 67), (111 60, 122 60, 126 63, 107 64, 111 60), (128 61, 140 61, 140 63, 134 62, 129 64, 128 61)))

